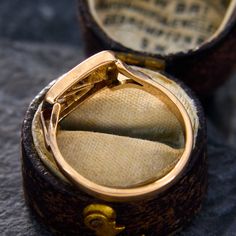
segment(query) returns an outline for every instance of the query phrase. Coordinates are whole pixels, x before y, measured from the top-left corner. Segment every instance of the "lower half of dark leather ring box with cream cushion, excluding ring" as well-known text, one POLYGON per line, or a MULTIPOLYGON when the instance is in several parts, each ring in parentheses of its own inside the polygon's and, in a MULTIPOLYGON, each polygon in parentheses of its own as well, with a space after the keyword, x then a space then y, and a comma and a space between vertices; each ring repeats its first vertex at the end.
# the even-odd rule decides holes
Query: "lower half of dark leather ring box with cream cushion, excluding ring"
MULTIPOLYGON (((139 70, 152 74, 155 78, 156 72, 142 68, 139 70)), ((52 232, 65 235, 95 235, 85 224, 86 209, 94 207, 99 210, 105 207, 110 209, 109 212, 114 212, 108 222, 111 226, 115 224, 116 230, 123 229, 120 235, 174 233, 198 212, 207 188, 203 111, 198 99, 180 81, 165 79, 159 82, 168 86, 187 109, 193 124, 194 148, 187 167, 171 187, 141 200, 117 202, 100 199, 86 194, 67 181, 45 147, 39 121, 40 105, 48 88, 33 100, 22 127, 25 198, 52 232)), ((140 185, 146 181, 146 175, 148 178, 153 175, 160 178, 168 173, 168 168, 172 168, 175 160, 178 160, 179 155, 176 156, 175 153, 181 153, 182 134, 178 131, 181 129, 177 119, 171 118, 171 112, 164 104, 157 102, 155 105, 154 100, 158 100, 156 97, 153 100, 153 96, 137 93, 132 89, 121 94, 118 90, 111 92, 111 95, 105 91, 97 96, 82 104, 61 122, 58 143, 66 160, 88 179, 113 187, 127 187, 128 183, 128 187, 140 185), (137 109, 137 104, 141 105, 141 109, 137 109), (119 108, 120 106, 123 109, 119 108), (98 116, 93 116, 93 113, 98 116), (124 116, 125 118, 121 119, 124 116), (112 121, 112 124, 106 123, 103 126, 104 120, 112 121), (136 132, 131 135, 132 129, 136 132), (138 131, 141 132, 137 133, 138 131), (80 163, 82 165, 79 165, 80 163)), ((99 214, 104 217, 105 213, 102 211, 99 214)))

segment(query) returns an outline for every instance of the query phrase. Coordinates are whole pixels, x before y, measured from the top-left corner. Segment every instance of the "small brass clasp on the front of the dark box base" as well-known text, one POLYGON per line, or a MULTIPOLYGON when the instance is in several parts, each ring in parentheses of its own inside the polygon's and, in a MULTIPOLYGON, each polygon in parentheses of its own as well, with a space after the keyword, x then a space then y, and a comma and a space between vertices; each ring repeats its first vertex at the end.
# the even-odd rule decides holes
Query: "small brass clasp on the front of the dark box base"
POLYGON ((116 212, 109 206, 91 204, 84 209, 85 225, 97 236, 115 236, 125 229, 116 225, 116 212))

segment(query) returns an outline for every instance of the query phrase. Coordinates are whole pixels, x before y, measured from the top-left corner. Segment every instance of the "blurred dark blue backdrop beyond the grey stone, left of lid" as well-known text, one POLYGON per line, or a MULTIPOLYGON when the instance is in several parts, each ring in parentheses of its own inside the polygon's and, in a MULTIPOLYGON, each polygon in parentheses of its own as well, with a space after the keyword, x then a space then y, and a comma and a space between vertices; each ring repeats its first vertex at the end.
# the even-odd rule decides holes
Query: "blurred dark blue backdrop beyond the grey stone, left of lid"
POLYGON ((75 0, 1 0, 0 36, 79 45, 75 0))

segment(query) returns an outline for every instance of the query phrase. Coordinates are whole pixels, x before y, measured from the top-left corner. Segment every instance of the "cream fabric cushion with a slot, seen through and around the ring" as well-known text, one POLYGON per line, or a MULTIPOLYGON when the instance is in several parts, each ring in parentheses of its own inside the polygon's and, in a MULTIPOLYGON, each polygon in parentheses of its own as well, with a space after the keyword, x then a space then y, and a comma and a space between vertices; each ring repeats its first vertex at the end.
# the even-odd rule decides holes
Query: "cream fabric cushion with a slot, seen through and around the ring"
MULTIPOLYGON (((155 72, 140 70, 155 78, 155 72)), ((159 82, 184 104, 196 136, 199 122, 194 102, 175 82, 159 82)), ((44 146, 38 112, 32 132, 41 159, 62 177, 44 146)), ((98 93, 67 116, 58 132, 61 153, 75 170, 98 184, 123 188, 167 174, 179 160, 183 142, 179 121, 167 106, 134 88, 98 93)))

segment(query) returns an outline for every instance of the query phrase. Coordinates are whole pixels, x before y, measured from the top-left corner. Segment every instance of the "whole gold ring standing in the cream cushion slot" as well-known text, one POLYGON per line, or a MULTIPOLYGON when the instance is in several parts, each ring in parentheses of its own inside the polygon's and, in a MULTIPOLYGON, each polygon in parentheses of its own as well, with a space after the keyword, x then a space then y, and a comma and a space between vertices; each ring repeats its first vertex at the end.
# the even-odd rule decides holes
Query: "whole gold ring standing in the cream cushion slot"
MULTIPOLYGON (((164 75, 158 75, 166 79, 164 75)), ((45 96, 41 120, 45 142, 60 171, 79 188, 107 201, 146 199, 162 192, 180 178, 193 147, 192 124, 183 104, 167 88, 148 75, 127 66, 111 51, 100 52, 61 76, 45 96), (127 87, 142 89, 168 106, 182 125, 185 147, 176 166, 163 178, 135 188, 110 188, 86 179, 67 163, 57 145, 58 124, 77 106, 104 88, 112 91, 127 87)))

